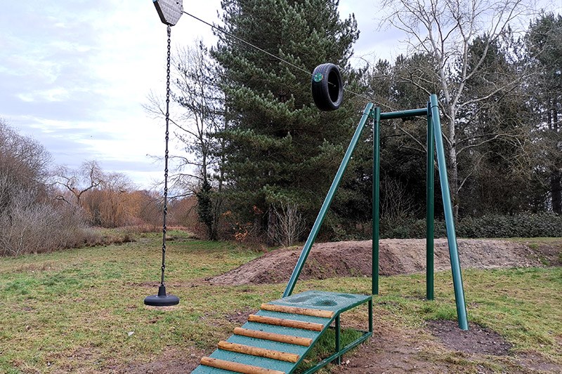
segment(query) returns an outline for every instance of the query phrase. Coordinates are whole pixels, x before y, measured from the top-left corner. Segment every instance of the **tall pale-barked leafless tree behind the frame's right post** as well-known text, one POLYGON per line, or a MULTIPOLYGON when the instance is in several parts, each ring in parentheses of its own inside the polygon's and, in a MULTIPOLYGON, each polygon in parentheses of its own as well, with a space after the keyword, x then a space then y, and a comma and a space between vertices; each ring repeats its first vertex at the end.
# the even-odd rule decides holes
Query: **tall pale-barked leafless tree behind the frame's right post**
POLYGON ((458 131, 459 113, 485 102, 501 92, 509 92, 523 76, 497 76, 488 89, 476 96, 464 95, 467 82, 483 71, 492 46, 506 36, 518 18, 530 13, 532 2, 525 0, 384 0, 383 8, 391 9, 384 20, 407 35, 409 53, 429 55, 435 67, 428 81, 428 72, 410 69, 400 79, 431 93, 432 82, 438 82, 440 107, 445 119, 445 140, 450 165, 450 183, 455 214, 458 213, 458 195, 463 180, 459 177, 458 155, 462 149, 471 149, 509 134, 490 133, 478 138, 458 131), (483 45, 477 60, 471 60, 470 46, 481 37, 483 45))

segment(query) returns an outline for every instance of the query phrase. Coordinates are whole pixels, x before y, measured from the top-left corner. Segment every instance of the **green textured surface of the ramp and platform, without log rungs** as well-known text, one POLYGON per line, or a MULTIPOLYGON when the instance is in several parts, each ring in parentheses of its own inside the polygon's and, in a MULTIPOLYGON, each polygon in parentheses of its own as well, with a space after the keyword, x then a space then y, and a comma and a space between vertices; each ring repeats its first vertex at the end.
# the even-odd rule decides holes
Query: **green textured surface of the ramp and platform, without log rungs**
MULTIPOLYGON (((249 345, 252 347, 260 347, 265 349, 273 349, 275 351, 287 352, 293 354, 299 354, 300 359, 297 363, 290 363, 286 361, 279 361, 275 359, 266 359, 259 356, 251 356, 249 354, 241 354, 235 352, 229 352, 223 349, 216 349, 209 357, 214 359, 221 359, 226 361, 233 361, 237 363, 244 363, 251 366, 259 366, 261 368, 268 368, 273 370, 280 370, 285 373, 292 373, 296 366, 302 361, 304 356, 310 351, 315 342, 320 338, 320 335, 327 330, 330 324, 339 316, 342 312, 346 312, 353 307, 364 304, 372 300, 372 297, 365 295, 352 295, 349 293, 332 293, 332 292, 322 292, 316 290, 309 290, 303 293, 298 293, 296 295, 288 296, 287 298, 282 298, 279 300, 273 300, 269 304, 273 305, 286 305, 290 307, 308 308, 308 309, 321 309, 334 312, 332 318, 322 318, 316 316, 304 316, 302 314, 292 314, 292 313, 281 313, 281 312, 270 312, 267 310, 259 310, 256 315, 259 316, 269 316, 281 319, 292 319, 294 321, 304 321, 312 323, 320 323, 322 326, 322 331, 311 331, 303 330, 301 328, 289 328, 283 326, 273 326, 265 323, 247 322, 244 323, 242 328, 247 328, 249 330, 259 330, 267 333, 277 333, 282 335, 297 336, 301 338, 311 338, 313 343, 310 347, 305 347, 301 345, 292 345, 282 342, 273 342, 271 340, 263 340, 257 338, 248 338, 241 335, 232 335, 228 338, 228 342, 233 342, 242 345, 249 345)), ((211 368, 209 366, 197 366, 195 370, 192 371, 195 374, 204 373, 235 373, 230 370, 222 370, 217 368, 211 368)))

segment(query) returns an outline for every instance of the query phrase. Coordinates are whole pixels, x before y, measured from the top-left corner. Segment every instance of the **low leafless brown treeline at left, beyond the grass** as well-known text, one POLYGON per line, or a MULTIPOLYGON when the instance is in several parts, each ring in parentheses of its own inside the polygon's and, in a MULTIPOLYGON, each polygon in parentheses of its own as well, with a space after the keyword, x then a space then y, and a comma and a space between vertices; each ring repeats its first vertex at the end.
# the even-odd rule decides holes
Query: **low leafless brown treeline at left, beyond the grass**
MULTIPOLYGON (((172 207, 170 222, 189 223, 191 201, 172 207)), ((0 117, 0 255, 128 241, 133 232, 161 229, 158 192, 138 190, 96 161, 57 166, 41 143, 0 117), (125 229, 114 235, 96 227, 125 229)))

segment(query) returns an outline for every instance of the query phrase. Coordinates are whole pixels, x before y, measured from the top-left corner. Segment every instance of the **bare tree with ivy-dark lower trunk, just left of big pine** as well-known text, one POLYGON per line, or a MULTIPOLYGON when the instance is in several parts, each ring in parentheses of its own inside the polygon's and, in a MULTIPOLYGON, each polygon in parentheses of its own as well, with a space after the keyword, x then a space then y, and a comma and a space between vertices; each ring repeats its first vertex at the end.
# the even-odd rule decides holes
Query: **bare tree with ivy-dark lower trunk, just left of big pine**
MULTIPOLYGON (((172 98, 180 108, 170 118, 183 154, 171 154, 174 173, 171 183, 182 196, 197 196, 200 221, 210 239, 216 239, 221 217, 224 140, 215 135, 226 126, 223 93, 218 87, 216 67, 201 41, 181 48, 173 58, 172 98)), ((164 106, 152 95, 145 109, 162 118, 164 106)))

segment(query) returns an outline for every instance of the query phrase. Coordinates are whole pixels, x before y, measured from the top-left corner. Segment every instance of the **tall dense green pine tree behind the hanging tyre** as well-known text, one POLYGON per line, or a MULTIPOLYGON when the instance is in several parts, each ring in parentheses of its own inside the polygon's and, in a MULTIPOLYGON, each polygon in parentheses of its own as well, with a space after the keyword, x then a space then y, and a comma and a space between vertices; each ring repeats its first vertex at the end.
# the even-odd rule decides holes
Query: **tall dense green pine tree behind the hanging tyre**
POLYGON ((219 136, 228 142, 233 199, 263 232, 273 228, 273 207, 281 204, 298 206, 310 224, 358 117, 352 103, 319 112, 309 73, 332 62, 348 72, 344 82, 351 79, 355 18, 340 20, 337 0, 224 0, 221 6, 226 32, 295 65, 217 33, 212 55, 223 68, 230 127, 219 136))

